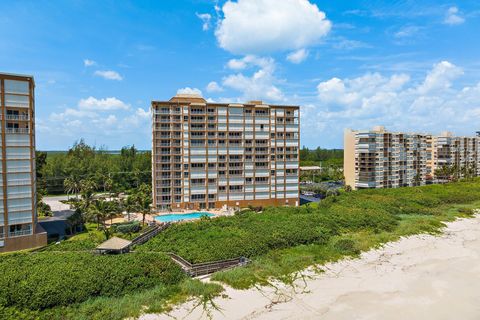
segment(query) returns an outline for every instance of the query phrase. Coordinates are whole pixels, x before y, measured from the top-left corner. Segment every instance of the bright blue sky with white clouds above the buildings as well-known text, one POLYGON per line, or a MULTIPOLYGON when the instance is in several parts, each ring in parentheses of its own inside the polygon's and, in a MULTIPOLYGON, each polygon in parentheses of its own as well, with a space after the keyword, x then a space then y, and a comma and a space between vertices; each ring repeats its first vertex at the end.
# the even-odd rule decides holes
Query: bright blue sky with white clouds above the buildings
POLYGON ((301 106, 344 128, 480 129, 478 1, 2 1, 0 71, 34 75, 37 149, 151 145, 150 101, 301 106))

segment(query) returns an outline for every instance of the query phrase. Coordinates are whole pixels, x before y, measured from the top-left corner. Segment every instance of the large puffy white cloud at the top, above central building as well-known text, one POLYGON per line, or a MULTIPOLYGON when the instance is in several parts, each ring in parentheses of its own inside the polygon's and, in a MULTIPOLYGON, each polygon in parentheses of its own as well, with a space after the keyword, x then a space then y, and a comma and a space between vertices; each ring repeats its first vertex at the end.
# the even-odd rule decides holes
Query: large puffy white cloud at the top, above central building
POLYGON ((308 0, 227 1, 215 30, 223 49, 235 54, 298 50, 325 37, 331 22, 308 0))

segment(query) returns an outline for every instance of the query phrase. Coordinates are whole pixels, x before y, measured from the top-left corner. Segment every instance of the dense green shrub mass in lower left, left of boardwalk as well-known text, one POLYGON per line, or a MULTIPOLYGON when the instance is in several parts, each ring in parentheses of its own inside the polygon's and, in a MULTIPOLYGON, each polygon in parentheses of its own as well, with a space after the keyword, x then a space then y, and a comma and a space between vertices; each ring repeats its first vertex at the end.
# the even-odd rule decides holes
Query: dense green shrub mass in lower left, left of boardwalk
POLYGON ((163 254, 19 253, 0 257, 0 306, 38 310, 176 284, 180 268, 163 254))

